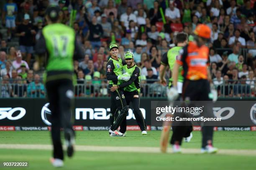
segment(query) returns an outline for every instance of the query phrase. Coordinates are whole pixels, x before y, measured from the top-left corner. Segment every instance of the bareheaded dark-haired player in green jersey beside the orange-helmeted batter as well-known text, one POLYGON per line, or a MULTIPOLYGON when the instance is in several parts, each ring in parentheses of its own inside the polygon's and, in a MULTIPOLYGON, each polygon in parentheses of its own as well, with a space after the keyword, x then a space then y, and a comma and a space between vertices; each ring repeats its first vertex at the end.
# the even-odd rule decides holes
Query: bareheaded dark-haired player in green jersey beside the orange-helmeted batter
MULTIPOLYGON (((166 86, 166 79, 164 78, 165 76, 165 70, 166 70, 166 66, 169 65, 170 71, 173 71, 173 67, 174 64, 176 62, 177 56, 179 55, 180 50, 182 50, 182 48, 184 46, 187 45, 187 34, 186 33, 178 33, 176 35, 176 40, 177 40, 177 46, 176 47, 172 47, 170 50, 168 50, 168 52, 166 52, 162 59, 161 59, 161 65, 160 65, 160 69, 159 69, 159 73, 160 73, 160 82, 162 85, 166 86)), ((182 84, 183 84, 183 76, 182 76, 182 67, 179 67, 179 73, 178 73, 178 82, 177 82, 177 90, 178 93, 181 95, 182 94, 182 84)), ((172 87, 172 76, 170 76, 171 78, 169 79, 169 85, 168 87, 172 87)), ((174 115, 175 116, 175 115, 174 115)), ((174 146, 174 141, 177 141, 177 139, 182 139, 184 138, 185 142, 189 142, 192 138, 192 125, 191 126, 182 126, 182 129, 185 131, 185 133, 180 133, 179 131, 179 127, 178 126, 172 126, 172 130, 173 130, 173 134, 172 134, 172 138, 171 138, 171 144, 174 146), (180 135, 180 134, 184 134, 184 135, 180 135)), ((173 148, 174 152, 179 152, 179 150, 176 150, 176 148, 173 148)))

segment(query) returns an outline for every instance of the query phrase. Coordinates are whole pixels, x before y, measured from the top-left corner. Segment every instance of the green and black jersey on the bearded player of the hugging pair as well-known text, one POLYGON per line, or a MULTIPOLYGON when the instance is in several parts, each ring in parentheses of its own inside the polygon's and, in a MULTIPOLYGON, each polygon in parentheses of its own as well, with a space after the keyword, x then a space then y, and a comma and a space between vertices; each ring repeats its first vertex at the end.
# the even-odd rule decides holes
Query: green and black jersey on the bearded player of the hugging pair
POLYGON ((141 79, 141 70, 137 65, 133 65, 133 67, 128 68, 127 65, 123 66, 123 73, 128 73, 131 78, 127 82, 123 81, 122 84, 119 85, 119 88, 124 88, 125 91, 140 92, 140 79, 141 79))

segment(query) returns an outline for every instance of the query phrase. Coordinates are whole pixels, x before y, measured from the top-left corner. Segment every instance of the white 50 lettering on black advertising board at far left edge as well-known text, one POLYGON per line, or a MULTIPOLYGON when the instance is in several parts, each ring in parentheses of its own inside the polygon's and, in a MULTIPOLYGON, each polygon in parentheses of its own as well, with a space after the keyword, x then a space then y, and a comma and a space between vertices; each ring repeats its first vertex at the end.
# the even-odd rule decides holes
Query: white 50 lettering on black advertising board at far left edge
POLYGON ((2 107, 0 108, 0 120, 9 119, 9 120, 18 120, 21 119, 24 115, 26 115, 26 110, 22 107, 2 107), (14 114, 15 112, 17 113, 14 114), (15 116, 16 115, 16 116, 15 116))

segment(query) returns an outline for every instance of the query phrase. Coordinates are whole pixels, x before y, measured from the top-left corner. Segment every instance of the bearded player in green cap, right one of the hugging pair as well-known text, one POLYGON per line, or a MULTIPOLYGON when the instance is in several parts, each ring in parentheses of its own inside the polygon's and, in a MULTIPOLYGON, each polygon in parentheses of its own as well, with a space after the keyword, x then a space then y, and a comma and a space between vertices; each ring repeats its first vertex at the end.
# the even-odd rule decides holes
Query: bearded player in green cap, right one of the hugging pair
MULTIPOLYGON (((141 135, 147 135, 147 126, 146 121, 140 110, 140 68, 133 62, 133 53, 128 51, 125 52, 125 62, 126 65, 123 66, 123 72, 128 73, 131 76, 130 80, 123 82, 120 85, 111 87, 111 92, 114 92, 118 89, 124 88, 124 95, 127 105, 130 105, 130 102, 133 104, 133 112, 136 118, 136 121, 141 129, 141 135)), ((123 120, 124 122, 120 125, 120 132, 125 133, 126 131, 126 117, 123 120)))

